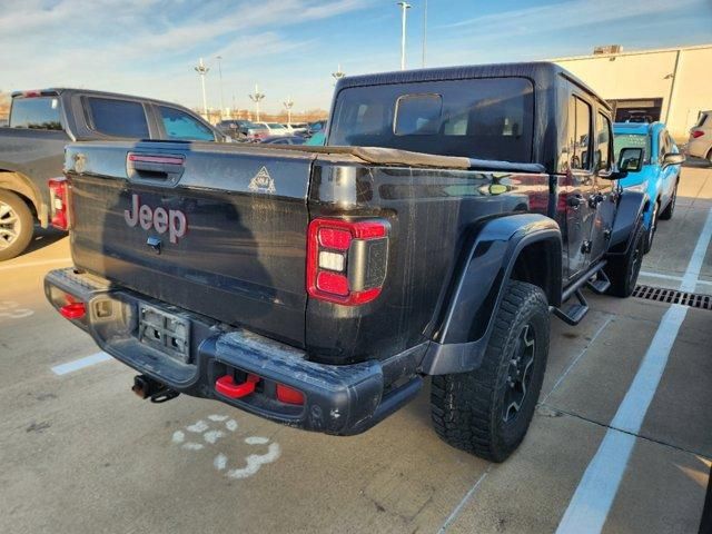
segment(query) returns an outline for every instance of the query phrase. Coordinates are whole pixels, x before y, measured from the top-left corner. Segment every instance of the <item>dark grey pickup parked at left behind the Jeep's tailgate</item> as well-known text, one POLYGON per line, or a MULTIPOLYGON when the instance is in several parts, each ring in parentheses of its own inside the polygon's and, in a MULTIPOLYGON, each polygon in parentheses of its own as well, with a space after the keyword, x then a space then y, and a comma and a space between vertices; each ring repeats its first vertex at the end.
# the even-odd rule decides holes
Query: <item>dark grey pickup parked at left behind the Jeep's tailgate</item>
POLYGON ((0 260, 24 250, 34 222, 47 227, 47 180, 62 175, 65 146, 91 139, 221 141, 225 136, 175 103, 83 89, 12 93, 0 128, 0 260))

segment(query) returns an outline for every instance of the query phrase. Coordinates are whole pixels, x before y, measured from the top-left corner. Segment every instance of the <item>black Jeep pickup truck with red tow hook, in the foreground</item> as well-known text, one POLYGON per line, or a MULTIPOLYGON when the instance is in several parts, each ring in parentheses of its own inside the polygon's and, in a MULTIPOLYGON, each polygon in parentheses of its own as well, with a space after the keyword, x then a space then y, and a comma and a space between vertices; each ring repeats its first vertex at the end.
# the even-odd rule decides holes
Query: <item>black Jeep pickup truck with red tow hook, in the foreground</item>
POLYGON ((47 298, 145 398, 350 435, 429 375, 437 434, 503 461, 551 314, 637 278, 645 199, 617 186, 609 106, 522 63, 346 78, 330 117, 326 147, 70 145, 75 267, 47 298))

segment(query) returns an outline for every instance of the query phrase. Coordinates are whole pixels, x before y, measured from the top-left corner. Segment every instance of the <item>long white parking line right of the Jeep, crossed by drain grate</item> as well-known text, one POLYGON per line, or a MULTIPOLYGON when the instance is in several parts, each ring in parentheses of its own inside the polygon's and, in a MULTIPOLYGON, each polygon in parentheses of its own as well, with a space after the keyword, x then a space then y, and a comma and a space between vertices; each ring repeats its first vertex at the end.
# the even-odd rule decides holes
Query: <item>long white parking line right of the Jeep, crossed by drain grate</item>
MULTIPOLYGON (((711 240, 712 209, 682 277, 681 290, 694 291, 711 240)), ((611 427, 568 503, 556 534, 593 534, 602 531, 635 446, 635 434, 653 400, 688 309, 686 306, 673 304, 665 312, 611 427)))

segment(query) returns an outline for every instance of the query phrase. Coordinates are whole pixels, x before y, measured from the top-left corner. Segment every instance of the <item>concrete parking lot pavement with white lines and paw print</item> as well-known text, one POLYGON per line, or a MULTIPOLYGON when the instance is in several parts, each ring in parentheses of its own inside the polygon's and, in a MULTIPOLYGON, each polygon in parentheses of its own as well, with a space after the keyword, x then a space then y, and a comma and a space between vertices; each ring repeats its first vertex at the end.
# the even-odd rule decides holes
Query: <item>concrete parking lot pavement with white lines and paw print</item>
MULTIPOLYGON (((684 168, 640 283, 692 279, 712 294, 705 225, 712 169, 684 168)), ((553 322, 530 434, 493 465, 435 436, 427 390, 349 438, 185 396, 139 400, 127 367, 76 363, 98 348, 41 289, 67 265, 68 239, 51 231, 0 264, 0 532, 698 531, 712 462, 710 310, 590 296, 578 327, 553 322), (679 329, 665 326, 681 314, 679 329)))

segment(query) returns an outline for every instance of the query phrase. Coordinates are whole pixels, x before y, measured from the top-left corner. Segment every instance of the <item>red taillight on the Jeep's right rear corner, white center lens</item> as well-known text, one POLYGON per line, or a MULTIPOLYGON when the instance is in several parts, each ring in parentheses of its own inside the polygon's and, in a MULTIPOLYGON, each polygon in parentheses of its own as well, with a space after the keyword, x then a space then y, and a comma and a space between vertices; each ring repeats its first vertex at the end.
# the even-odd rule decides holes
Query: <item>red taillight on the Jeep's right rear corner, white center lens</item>
POLYGON ((307 293, 354 306, 380 294, 388 259, 385 220, 315 219, 307 237, 307 293))

